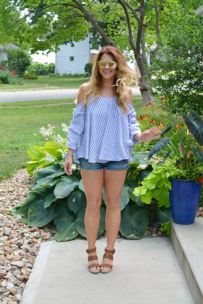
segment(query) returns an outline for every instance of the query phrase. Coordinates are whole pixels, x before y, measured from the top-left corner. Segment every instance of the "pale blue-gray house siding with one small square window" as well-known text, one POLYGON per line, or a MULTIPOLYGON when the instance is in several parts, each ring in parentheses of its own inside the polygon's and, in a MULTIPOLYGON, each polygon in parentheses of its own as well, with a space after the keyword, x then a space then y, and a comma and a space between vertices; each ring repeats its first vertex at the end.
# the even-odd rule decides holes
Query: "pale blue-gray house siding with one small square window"
POLYGON ((56 53, 55 73, 62 74, 83 74, 84 66, 90 61, 89 34, 86 39, 59 46, 60 51, 56 53), (72 58, 73 57, 73 58, 72 58), (73 59, 73 61, 71 61, 73 59))

